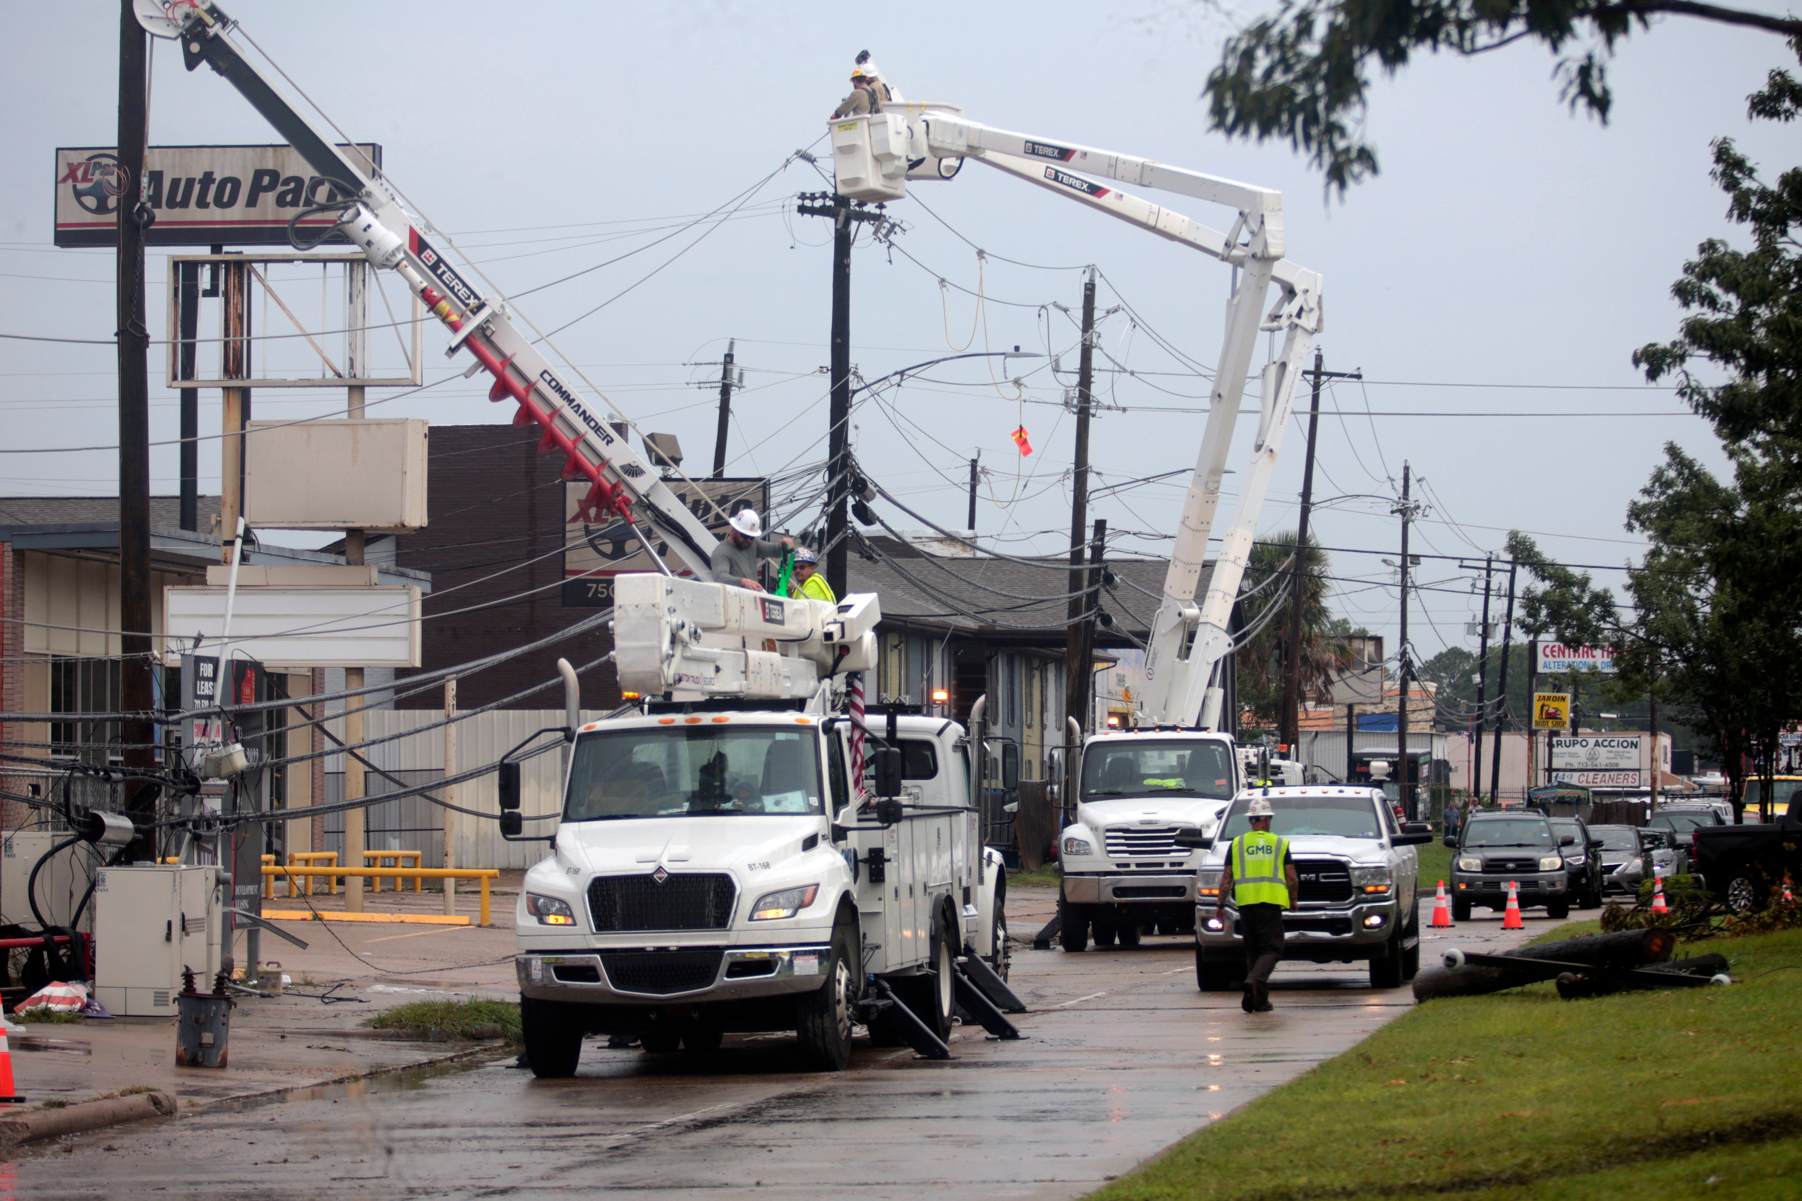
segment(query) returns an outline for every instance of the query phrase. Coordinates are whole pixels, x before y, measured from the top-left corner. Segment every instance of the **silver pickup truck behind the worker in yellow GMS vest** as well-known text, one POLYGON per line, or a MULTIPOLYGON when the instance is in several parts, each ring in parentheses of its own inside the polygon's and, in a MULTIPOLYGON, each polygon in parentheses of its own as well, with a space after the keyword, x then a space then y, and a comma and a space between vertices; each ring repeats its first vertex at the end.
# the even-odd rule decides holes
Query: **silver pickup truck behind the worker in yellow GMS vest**
POLYGON ((1433 841, 1425 823, 1397 823, 1382 789, 1342 785, 1247 789, 1234 798, 1197 873, 1195 980, 1204 992, 1245 978, 1238 909, 1227 898, 1215 917, 1220 877, 1233 839, 1251 825, 1252 798, 1270 801, 1270 832, 1288 839, 1301 877, 1299 908, 1283 915, 1283 958, 1312 963, 1370 963, 1371 989, 1400 989, 1420 969, 1415 846, 1433 841))

